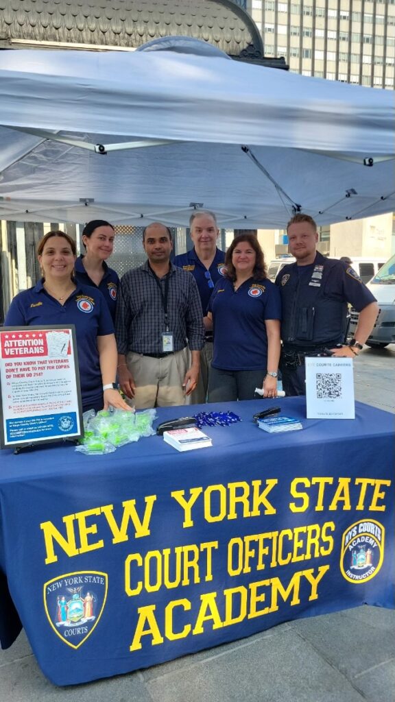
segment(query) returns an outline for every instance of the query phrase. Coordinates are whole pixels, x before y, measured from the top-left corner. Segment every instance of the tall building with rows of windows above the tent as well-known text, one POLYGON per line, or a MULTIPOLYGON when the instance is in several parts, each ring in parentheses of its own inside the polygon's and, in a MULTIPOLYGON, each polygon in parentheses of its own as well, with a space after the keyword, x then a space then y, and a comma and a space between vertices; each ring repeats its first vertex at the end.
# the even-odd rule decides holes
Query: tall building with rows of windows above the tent
POLYGON ((291 71, 394 89, 394 0, 247 0, 247 11, 265 55, 291 71))

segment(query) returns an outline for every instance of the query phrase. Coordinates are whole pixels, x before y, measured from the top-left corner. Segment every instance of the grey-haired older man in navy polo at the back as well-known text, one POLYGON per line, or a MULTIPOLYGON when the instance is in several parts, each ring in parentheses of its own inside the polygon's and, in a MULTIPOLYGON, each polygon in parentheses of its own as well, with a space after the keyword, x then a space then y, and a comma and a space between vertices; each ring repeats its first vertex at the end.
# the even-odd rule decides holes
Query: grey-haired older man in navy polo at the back
POLYGON ((224 276, 225 272, 225 251, 221 251, 216 246, 219 235, 219 228, 216 223, 214 212, 208 210, 197 210, 192 213, 189 220, 190 238, 193 241, 193 249, 187 253, 181 253, 174 258, 174 265, 183 268, 193 274, 202 301, 203 322, 205 324, 205 347, 200 352, 200 375, 197 387, 190 395, 191 404, 203 404, 207 398, 207 387, 209 383, 209 369, 213 354, 212 330, 207 329, 207 306, 212 294, 212 290, 217 280, 224 276))

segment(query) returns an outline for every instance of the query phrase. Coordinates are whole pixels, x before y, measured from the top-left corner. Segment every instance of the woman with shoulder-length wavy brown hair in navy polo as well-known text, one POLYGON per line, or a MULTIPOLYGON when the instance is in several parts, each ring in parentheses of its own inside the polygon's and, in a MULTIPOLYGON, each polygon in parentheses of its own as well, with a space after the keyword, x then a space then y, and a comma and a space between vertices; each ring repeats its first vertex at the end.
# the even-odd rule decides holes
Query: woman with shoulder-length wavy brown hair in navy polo
POLYGON ((208 308, 214 329, 209 402, 254 399, 255 388, 276 397, 281 300, 266 278, 257 237, 233 239, 225 265, 226 277, 216 283, 208 308))

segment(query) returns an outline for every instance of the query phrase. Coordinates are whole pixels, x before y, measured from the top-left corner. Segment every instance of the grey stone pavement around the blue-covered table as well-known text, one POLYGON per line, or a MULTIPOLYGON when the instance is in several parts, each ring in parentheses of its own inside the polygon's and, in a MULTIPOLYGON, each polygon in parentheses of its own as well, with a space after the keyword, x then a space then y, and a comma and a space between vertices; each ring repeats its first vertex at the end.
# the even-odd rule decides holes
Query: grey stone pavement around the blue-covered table
MULTIPOLYGON (((395 345, 365 347, 356 399, 395 413, 395 345)), ((106 680, 57 688, 22 632, 0 651, 0 702, 395 702, 395 610, 357 607, 106 680)))

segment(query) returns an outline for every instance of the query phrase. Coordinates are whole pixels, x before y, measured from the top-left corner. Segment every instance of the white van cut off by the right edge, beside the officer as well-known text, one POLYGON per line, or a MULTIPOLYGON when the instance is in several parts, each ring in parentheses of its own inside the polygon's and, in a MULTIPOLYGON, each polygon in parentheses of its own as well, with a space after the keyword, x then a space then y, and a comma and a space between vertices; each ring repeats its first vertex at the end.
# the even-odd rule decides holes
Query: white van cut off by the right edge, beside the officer
MULTIPOLYGON (((368 282, 368 288, 375 296, 380 311, 366 344, 372 348, 383 349, 395 343, 395 254, 368 282)), ((351 336, 354 336, 357 324, 358 312, 351 308, 351 336)))

